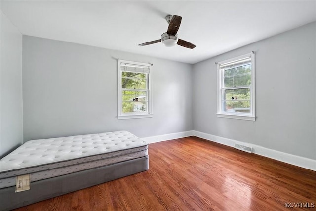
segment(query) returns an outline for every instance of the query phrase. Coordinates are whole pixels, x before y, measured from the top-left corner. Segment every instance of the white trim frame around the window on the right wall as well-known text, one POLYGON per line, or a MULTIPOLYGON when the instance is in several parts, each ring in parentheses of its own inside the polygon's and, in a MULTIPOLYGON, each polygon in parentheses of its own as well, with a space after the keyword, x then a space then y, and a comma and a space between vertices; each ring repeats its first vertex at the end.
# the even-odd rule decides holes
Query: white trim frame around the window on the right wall
POLYGON ((227 59, 225 61, 221 61, 216 63, 217 66, 217 117, 224 117, 224 118, 232 118, 232 119, 240 119, 240 120, 251 120, 256 121, 256 106, 255 106, 255 52, 247 53, 245 55, 237 56, 235 58, 227 59), (239 60, 245 57, 251 57, 251 94, 250 94, 250 101, 251 101, 251 114, 250 115, 240 115, 240 114, 226 114, 222 113, 222 103, 221 103, 221 89, 222 89, 222 80, 221 80, 221 70, 220 65, 232 62, 235 60, 239 60))

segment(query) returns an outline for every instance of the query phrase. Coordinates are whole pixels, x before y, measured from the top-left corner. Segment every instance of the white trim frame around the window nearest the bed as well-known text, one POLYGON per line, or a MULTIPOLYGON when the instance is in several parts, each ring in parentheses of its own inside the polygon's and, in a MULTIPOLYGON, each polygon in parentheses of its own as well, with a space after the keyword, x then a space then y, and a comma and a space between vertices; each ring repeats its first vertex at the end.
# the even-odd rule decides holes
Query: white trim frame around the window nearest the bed
POLYGON ((152 90, 152 65, 142 62, 134 62, 118 59, 118 119, 137 119, 137 118, 150 118, 153 117, 153 90, 152 90), (148 74, 148 113, 136 113, 136 114, 124 114, 122 112, 122 79, 121 79, 121 63, 127 63, 132 65, 141 65, 149 67, 148 74))

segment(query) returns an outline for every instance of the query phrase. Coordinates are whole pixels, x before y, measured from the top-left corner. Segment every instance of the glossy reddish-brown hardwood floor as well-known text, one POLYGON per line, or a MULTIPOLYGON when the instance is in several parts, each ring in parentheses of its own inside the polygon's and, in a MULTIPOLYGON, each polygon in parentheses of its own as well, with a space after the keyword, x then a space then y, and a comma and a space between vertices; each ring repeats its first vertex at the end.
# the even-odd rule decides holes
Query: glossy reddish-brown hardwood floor
POLYGON ((316 210, 312 170, 197 137, 150 144, 149 156, 148 171, 16 211, 316 210))

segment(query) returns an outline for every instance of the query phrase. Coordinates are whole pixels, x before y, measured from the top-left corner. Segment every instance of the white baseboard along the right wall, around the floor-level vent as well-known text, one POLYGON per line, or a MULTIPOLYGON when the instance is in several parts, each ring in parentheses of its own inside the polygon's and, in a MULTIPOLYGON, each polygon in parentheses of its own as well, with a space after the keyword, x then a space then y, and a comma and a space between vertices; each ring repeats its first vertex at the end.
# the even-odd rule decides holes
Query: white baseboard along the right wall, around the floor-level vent
POLYGON ((236 141, 236 140, 232 140, 228 138, 223 138, 216 135, 210 135, 203 132, 194 131, 193 135, 199 138, 203 138, 209 141, 224 144, 230 147, 234 147, 235 143, 249 146, 253 148, 253 153, 255 154, 262 155, 264 157, 272 158, 274 160, 282 161, 284 163, 292 164, 292 165, 302 167, 305 169, 316 171, 316 160, 313 160, 313 159, 304 158, 297 155, 292 155, 292 154, 276 151, 273 149, 268 149, 268 148, 255 145, 255 144, 244 143, 244 142, 240 142, 240 141, 236 141))

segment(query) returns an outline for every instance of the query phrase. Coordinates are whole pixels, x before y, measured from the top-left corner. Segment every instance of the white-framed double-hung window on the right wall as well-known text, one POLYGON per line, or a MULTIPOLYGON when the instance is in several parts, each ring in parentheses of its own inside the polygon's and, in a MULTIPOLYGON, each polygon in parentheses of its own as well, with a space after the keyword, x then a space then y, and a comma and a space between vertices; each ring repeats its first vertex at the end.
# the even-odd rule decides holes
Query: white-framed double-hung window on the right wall
POLYGON ((217 63, 217 116, 255 121, 254 52, 217 63))

